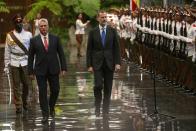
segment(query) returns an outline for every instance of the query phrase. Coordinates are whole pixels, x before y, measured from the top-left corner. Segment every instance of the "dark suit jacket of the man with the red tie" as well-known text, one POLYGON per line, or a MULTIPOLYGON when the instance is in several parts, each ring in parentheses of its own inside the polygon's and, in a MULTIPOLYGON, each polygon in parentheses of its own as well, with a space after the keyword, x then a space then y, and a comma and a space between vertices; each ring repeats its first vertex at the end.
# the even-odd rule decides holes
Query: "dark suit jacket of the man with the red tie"
POLYGON ((28 71, 29 74, 35 75, 56 75, 60 70, 67 70, 66 60, 57 36, 48 35, 49 46, 48 51, 45 50, 41 36, 30 40, 29 56, 28 56, 28 71))

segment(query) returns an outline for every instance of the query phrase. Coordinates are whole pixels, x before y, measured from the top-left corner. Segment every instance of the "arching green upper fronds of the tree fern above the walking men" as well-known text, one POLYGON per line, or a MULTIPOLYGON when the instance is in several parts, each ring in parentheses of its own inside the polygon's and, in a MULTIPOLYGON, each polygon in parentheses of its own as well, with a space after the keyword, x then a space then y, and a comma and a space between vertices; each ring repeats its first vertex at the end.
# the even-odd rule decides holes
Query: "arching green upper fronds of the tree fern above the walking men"
POLYGON ((55 16, 75 16, 76 13, 84 12, 93 17, 100 8, 100 0, 36 0, 31 5, 31 10, 26 17, 30 20, 44 9, 48 9, 55 16))

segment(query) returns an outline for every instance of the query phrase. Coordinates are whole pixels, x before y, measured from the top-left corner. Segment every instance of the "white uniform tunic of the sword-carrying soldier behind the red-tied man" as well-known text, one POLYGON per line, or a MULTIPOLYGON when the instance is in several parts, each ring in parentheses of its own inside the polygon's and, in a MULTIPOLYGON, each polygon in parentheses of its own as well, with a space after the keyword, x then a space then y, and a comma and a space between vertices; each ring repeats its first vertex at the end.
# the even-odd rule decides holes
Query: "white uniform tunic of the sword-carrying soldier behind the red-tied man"
MULTIPOLYGON (((22 30, 20 33, 14 30, 13 33, 28 50, 30 45, 30 39, 32 38, 32 33, 25 30, 22 30)), ((9 65, 14 67, 20 67, 20 66, 27 66, 28 64, 28 56, 15 43, 15 41, 12 39, 9 33, 6 36, 6 41, 5 41, 4 63, 5 63, 5 70, 8 69, 9 65)))

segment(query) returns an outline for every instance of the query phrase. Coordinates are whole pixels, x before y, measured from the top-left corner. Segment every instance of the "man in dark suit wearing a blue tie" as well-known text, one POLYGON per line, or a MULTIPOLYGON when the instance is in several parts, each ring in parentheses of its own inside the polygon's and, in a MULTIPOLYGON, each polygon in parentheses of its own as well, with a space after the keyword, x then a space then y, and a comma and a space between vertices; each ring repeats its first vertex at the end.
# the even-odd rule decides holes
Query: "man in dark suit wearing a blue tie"
POLYGON ((103 116, 108 116, 114 71, 120 69, 120 49, 117 32, 106 24, 106 12, 97 15, 99 25, 89 32, 87 45, 88 71, 94 73, 95 115, 100 116, 103 93, 103 116))

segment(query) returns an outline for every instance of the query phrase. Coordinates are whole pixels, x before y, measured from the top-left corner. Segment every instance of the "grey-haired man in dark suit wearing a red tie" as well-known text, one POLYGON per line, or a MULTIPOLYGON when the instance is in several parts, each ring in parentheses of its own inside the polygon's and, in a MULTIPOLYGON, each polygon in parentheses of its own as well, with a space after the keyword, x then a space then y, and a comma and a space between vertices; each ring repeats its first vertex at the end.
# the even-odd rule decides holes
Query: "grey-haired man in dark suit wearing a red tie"
POLYGON ((42 110, 42 123, 48 122, 49 108, 52 118, 55 116, 55 103, 59 94, 59 74, 67 71, 66 60, 60 40, 48 33, 47 19, 39 20, 40 34, 30 40, 28 71, 35 75, 39 87, 39 101, 42 110), (47 81, 50 86, 50 98, 47 99, 47 81))

